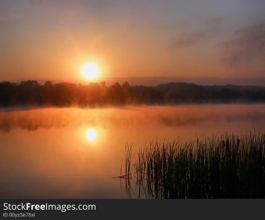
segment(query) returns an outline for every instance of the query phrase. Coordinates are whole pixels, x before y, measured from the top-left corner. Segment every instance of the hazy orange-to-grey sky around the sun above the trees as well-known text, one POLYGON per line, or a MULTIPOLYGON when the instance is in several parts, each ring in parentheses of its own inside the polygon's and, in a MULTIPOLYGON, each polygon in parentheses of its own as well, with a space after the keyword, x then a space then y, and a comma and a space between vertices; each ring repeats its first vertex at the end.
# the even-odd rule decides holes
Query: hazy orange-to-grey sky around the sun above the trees
POLYGON ((264 0, 0 1, 0 81, 104 77, 257 78, 264 0))

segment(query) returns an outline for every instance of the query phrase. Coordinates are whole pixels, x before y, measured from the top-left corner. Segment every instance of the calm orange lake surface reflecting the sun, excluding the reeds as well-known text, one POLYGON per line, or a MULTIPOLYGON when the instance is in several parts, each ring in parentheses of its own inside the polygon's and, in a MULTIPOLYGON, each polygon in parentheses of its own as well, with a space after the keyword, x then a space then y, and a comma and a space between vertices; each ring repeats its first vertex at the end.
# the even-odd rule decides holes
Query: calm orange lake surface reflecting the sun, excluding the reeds
MULTIPOLYGON (((126 198, 112 178, 126 143, 135 153, 154 139, 254 130, 265 131, 264 104, 1 109, 0 197, 126 198)), ((137 198, 134 175, 130 184, 137 198)))

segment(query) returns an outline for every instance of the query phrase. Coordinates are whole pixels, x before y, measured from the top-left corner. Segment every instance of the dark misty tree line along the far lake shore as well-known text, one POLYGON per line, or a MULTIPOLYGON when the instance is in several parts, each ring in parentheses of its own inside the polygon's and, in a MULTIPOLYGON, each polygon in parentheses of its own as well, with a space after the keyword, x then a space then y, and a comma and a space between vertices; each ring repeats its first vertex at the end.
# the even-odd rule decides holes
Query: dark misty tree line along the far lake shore
MULTIPOLYGON (((173 105, 189 103, 264 102, 264 86, 167 83, 157 86, 130 86, 128 82, 106 86, 105 82, 88 85, 73 83, 0 83, 0 106, 73 106, 147 104, 173 105)), ((36 82, 36 81, 34 81, 36 82)))

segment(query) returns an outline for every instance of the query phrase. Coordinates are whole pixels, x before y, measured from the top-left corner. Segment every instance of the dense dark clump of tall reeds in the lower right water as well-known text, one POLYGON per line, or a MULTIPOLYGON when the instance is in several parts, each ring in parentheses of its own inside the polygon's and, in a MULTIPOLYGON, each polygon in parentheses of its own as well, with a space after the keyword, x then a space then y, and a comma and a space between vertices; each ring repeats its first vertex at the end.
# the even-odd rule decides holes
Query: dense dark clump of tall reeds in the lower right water
POLYGON ((139 149, 133 166, 138 198, 265 198, 265 135, 260 133, 183 144, 154 140, 139 149))

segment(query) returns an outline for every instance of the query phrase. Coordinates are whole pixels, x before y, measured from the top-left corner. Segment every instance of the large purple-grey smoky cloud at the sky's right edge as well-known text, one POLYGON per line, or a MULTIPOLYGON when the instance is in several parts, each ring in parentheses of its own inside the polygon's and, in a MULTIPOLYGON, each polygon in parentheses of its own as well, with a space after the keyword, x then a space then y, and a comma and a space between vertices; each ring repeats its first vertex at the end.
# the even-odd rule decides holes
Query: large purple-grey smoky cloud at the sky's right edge
POLYGON ((229 65, 265 58, 265 22, 235 30, 235 37, 221 46, 222 61, 229 65))

